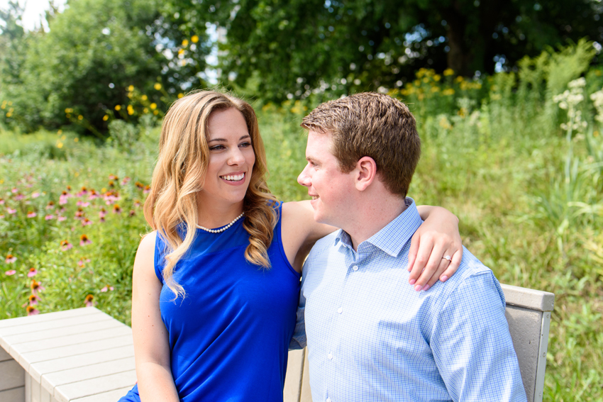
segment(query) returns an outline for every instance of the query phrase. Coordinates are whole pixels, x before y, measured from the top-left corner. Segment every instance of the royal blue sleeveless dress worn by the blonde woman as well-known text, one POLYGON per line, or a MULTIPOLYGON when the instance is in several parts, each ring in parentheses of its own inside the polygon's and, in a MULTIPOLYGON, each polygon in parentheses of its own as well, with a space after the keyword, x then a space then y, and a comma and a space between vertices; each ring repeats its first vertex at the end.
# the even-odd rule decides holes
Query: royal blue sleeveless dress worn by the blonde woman
MULTIPOLYGON (((282 216, 282 203, 277 207, 282 216)), ((243 219, 222 233, 197 229, 174 277, 186 296, 163 286, 161 317, 169 333, 180 401, 282 402, 299 277, 284 255, 281 219, 268 249, 271 267, 245 260, 243 219)), ((163 283, 165 242, 157 236, 155 273, 163 283)), ((120 402, 140 402, 138 386, 120 402)))

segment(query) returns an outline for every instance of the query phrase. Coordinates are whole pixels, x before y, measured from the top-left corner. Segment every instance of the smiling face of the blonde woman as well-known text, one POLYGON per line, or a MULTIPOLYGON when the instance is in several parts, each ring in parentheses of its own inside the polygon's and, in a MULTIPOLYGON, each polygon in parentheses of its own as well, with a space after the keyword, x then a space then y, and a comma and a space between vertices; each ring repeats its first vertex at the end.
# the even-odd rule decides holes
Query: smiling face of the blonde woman
POLYGON ((247 193, 255 163, 251 137, 240 111, 229 108, 211 113, 207 145, 209 163, 199 201, 220 206, 240 203, 247 193))

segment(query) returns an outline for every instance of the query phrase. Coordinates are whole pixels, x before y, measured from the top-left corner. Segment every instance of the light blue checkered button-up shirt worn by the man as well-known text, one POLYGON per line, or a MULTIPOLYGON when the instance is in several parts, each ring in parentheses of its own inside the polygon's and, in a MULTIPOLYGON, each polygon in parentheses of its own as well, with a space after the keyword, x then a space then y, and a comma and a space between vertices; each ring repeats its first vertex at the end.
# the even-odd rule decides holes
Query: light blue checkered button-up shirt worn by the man
POLYGON ((504 294, 463 249, 445 283, 414 291, 406 270, 414 201, 355 252, 343 230, 316 242, 292 348, 309 350, 314 402, 526 401, 504 294))

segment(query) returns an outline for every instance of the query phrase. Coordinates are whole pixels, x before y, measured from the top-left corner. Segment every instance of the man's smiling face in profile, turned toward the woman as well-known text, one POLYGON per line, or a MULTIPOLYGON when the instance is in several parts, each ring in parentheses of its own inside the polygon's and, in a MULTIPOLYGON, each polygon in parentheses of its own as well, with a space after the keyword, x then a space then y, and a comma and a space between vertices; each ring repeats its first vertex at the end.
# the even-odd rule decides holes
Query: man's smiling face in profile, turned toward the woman
POLYGON ((343 173, 339 170, 338 161, 331 153, 331 138, 331 133, 308 133, 308 164, 297 177, 297 182, 308 187, 316 222, 344 228, 349 208, 346 201, 350 201, 353 195, 354 180, 352 172, 343 173))

